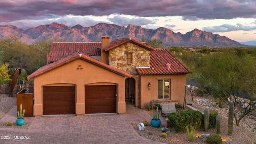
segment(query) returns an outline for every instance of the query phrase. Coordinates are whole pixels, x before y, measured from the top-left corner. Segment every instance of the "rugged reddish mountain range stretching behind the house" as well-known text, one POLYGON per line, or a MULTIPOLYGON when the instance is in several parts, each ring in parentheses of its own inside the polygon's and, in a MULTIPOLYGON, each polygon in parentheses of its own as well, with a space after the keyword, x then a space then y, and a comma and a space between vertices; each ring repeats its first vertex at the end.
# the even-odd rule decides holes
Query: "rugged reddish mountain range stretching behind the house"
POLYGON ((0 25, 0 39, 8 38, 9 36, 17 36, 26 44, 49 39, 66 42, 99 42, 102 36, 109 36, 110 40, 127 37, 137 41, 141 41, 142 38, 150 40, 160 39, 166 46, 171 47, 246 47, 246 45, 231 40, 226 36, 198 29, 181 34, 167 28, 160 27, 152 30, 132 24, 129 24, 127 27, 105 23, 99 23, 90 27, 84 27, 79 24, 68 27, 64 24, 53 22, 27 30, 13 25, 0 25))

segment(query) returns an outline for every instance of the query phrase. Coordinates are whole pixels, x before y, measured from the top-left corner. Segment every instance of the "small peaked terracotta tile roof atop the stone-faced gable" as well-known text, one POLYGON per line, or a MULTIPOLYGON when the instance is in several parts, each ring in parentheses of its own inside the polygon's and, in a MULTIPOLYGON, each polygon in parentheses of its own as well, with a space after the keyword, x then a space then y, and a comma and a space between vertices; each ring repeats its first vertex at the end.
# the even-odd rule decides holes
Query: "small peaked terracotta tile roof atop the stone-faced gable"
POLYGON ((146 42, 138 42, 136 40, 133 40, 132 38, 120 38, 120 39, 113 40, 113 41, 110 42, 110 44, 109 44, 110 46, 105 48, 104 50, 107 52, 107 51, 109 51, 113 48, 116 48, 118 46, 121 46, 122 44, 125 44, 127 42, 132 42, 132 43, 137 44, 137 45, 139 45, 143 48, 146 48, 148 50, 155 50, 155 48, 152 48, 151 46, 148 46, 146 44, 146 42))

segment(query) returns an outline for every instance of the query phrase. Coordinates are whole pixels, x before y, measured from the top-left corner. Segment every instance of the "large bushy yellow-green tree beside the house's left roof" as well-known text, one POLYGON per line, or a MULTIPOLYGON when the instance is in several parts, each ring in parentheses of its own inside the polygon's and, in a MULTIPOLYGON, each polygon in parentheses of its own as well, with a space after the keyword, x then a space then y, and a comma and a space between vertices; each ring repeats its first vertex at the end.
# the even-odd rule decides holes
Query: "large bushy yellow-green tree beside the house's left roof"
POLYGON ((47 52, 50 51, 51 44, 52 42, 42 41, 27 45, 14 36, 4 38, 0 40, 0 48, 4 52, 1 60, 8 62, 12 69, 24 68, 28 74, 31 74, 46 65, 47 52))

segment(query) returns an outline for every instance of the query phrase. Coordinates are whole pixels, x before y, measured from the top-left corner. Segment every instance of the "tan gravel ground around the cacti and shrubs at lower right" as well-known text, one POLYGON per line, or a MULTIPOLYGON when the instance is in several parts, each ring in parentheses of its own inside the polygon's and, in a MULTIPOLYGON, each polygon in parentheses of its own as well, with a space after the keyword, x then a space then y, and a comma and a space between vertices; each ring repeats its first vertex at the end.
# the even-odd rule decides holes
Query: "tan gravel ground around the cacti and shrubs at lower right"
MULTIPOLYGON (((204 108, 207 106, 209 109, 214 109, 216 106, 212 105, 210 98, 208 97, 196 97, 194 96, 194 101, 192 102, 191 96, 186 97, 187 104, 193 104, 193 107, 204 111, 204 108)), ((148 113, 152 116, 152 111, 148 113)), ((228 136, 228 110, 223 108, 223 110, 218 110, 219 114, 222 116, 220 136, 222 138, 222 144, 254 144, 256 142, 256 120, 252 114, 249 114, 244 120, 240 122, 240 126, 236 126, 234 122, 233 134, 228 136), (252 118, 253 117, 253 118, 252 118), (250 124, 248 124, 250 123, 250 124)), ((143 120, 142 120, 143 121, 143 120)), ((136 132, 149 140, 154 140, 156 142, 162 142, 166 144, 207 144, 206 139, 201 136, 201 134, 216 134, 216 128, 204 132, 204 128, 201 127, 196 132, 196 139, 194 142, 189 142, 187 132, 179 132, 176 138, 174 128, 169 128, 170 132, 167 132, 167 138, 162 138, 160 134, 162 133, 161 128, 164 128, 164 125, 161 124, 160 128, 153 128, 151 122, 148 122, 148 126, 145 126, 143 131, 138 130, 138 123, 133 123, 132 126, 136 132), (199 136, 199 138, 198 138, 199 136)))

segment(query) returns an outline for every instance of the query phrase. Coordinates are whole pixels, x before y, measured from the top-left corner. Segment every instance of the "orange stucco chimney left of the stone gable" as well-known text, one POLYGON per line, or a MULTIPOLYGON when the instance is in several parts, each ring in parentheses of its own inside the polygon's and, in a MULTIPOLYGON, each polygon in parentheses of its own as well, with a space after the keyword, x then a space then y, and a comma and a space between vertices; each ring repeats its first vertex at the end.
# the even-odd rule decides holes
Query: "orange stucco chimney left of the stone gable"
POLYGON ((101 37, 101 62, 104 64, 109 64, 108 62, 108 52, 106 52, 104 49, 109 47, 109 37, 102 36, 101 37))

